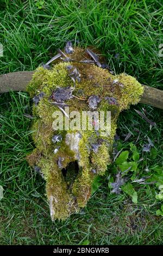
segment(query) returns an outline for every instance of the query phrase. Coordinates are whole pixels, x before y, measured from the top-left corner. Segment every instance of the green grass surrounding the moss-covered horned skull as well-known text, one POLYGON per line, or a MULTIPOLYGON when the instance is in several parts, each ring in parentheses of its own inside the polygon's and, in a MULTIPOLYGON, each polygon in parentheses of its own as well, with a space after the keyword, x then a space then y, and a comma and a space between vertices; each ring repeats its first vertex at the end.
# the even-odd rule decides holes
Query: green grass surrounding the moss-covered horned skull
MULTIPOLYGON (((117 74, 126 72, 139 82, 162 89, 161 1, 49 0, 42 9, 36 1, 1 1, 0 72, 34 70, 47 62, 67 40, 79 45, 95 45, 105 54, 117 74), (118 59, 114 58, 120 53, 118 59)), ((1 86, 1 85, 0 85, 1 86)), ((160 204, 155 200, 154 185, 136 185, 138 204, 123 193, 115 195, 108 188, 108 176, 93 194, 86 208, 66 221, 51 222, 45 197, 45 182, 29 168, 24 157, 33 149, 30 138, 29 96, 26 93, 0 95, 1 170, 0 185, 4 198, 0 202, 1 245, 160 245, 163 239, 162 218, 155 215, 160 204)), ((123 149, 135 143, 134 128, 141 131, 137 147, 143 156, 142 169, 154 172, 162 166, 162 111, 137 105, 121 114, 117 133, 123 149), (156 127, 136 114, 134 108, 145 107, 156 127), (123 142, 123 134, 133 135, 123 142), (152 139, 157 156, 142 153, 146 136, 152 139)))

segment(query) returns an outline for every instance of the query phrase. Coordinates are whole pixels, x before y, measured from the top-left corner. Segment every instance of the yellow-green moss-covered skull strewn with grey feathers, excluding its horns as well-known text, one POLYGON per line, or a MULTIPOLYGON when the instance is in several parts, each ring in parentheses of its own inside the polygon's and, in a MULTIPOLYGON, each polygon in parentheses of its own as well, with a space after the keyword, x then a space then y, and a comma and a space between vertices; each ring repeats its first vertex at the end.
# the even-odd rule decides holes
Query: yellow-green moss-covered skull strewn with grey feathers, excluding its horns
POLYGON ((46 180, 52 220, 65 219, 86 205, 93 179, 103 175, 111 162, 119 113, 136 104, 143 93, 134 77, 112 75, 92 64, 82 48, 66 57, 52 69, 37 68, 27 88, 34 100, 32 136, 36 147, 27 160, 46 180), (70 112, 111 111, 110 135, 95 129, 56 131, 53 113, 64 113, 65 106, 70 112))

